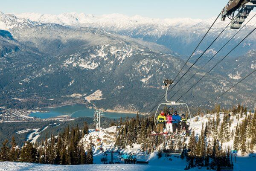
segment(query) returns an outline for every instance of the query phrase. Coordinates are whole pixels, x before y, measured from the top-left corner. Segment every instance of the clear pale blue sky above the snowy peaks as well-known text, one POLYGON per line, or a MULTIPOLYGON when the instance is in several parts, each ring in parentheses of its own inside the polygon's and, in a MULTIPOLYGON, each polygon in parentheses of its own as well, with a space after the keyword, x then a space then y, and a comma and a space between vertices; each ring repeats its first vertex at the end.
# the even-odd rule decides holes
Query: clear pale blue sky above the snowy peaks
POLYGON ((125 14, 151 18, 210 18, 221 12, 228 0, 5 0, 3 13, 35 12, 61 14, 125 14))

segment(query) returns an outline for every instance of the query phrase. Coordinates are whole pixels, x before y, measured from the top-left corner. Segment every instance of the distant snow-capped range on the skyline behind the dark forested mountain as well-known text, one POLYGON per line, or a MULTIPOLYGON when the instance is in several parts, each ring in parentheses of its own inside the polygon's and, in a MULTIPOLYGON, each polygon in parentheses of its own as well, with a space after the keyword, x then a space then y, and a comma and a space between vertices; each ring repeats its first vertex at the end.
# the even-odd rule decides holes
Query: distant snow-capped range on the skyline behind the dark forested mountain
MULTIPOLYGON (((251 12, 249 18, 255 13, 251 12)), ((77 14, 77 13, 63 13, 63 14, 37 14, 37 13, 22 13, 12 14, 17 18, 26 18, 31 21, 40 23, 57 23, 63 26, 69 27, 90 27, 101 28, 107 31, 117 32, 121 35, 128 35, 133 38, 140 38, 145 41, 155 42, 162 44, 174 52, 181 55, 190 55, 193 48, 195 48, 195 42, 199 42, 201 37, 207 31, 209 26, 215 20, 215 17, 201 20, 191 18, 148 18, 135 15, 128 17, 123 14, 105 14, 100 16, 94 16, 93 14, 77 14)), ((246 21, 247 21, 246 20, 246 21)), ((209 43, 221 32, 222 29, 229 23, 229 20, 221 21, 217 20, 213 26, 209 36, 205 39, 205 43, 199 47, 199 51, 204 51, 209 43)), ((243 29, 243 32, 239 33, 234 38, 233 44, 236 44, 247 33, 256 26, 256 18, 253 18, 247 26, 243 29)), ((237 30, 227 29, 212 46, 212 50, 218 50, 221 46, 231 38, 237 30)), ((246 40, 246 44, 252 44, 252 46, 243 46, 239 49, 241 55, 246 54, 251 48, 256 49, 255 34, 251 35, 246 40)), ((231 44, 232 44, 231 43, 231 44)), ((228 47, 232 47, 232 45, 228 47)), ((225 54, 224 51, 223 54, 225 54)), ((209 54, 210 55, 210 54, 209 54)), ((186 57, 185 57, 186 58, 186 57)))

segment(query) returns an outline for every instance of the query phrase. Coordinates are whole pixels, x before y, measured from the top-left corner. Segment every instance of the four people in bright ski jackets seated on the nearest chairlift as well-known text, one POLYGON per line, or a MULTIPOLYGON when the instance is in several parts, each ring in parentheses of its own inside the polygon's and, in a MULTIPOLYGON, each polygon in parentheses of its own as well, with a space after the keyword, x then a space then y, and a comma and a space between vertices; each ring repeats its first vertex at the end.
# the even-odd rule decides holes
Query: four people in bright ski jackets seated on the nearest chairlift
POLYGON ((157 133, 163 133, 164 127, 166 131, 170 133, 176 133, 176 129, 180 131, 180 127, 188 130, 188 125, 186 124, 186 116, 184 114, 178 115, 177 111, 173 115, 168 111, 167 114, 163 111, 157 116, 157 133))

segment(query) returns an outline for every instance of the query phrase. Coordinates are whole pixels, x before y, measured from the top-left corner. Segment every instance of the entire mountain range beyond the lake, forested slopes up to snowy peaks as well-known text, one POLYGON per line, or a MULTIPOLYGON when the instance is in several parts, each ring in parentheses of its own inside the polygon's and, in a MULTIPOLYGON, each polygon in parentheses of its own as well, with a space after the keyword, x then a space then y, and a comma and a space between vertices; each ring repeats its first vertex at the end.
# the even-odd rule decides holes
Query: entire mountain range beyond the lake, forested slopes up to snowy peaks
MULTIPOLYGON (((0 12, 0 103, 9 107, 24 107, 23 103, 29 104, 25 105, 27 108, 40 107, 61 103, 65 99, 63 96, 77 93, 84 98, 101 90, 102 100, 93 101, 97 107, 146 112, 163 94, 163 79, 177 75, 212 20, 0 12)), ((217 23, 192 61, 227 23, 217 23)), ((255 23, 255 19, 248 23, 230 46, 250 32, 255 23)), ((218 46, 211 48, 192 72, 196 72, 234 33, 228 29, 215 43, 218 46)), ((204 106, 251 72, 256 62, 255 37, 255 34, 250 35, 230 58, 182 100, 191 106, 204 106)), ((214 58, 213 63, 228 52, 228 47, 214 58)), ((210 65, 183 91, 201 78, 207 68, 210 65)), ((184 78, 189 78, 192 72, 184 78)), ((253 81, 255 77, 239 84, 221 102, 228 106, 243 103, 253 108, 256 101, 253 81)))

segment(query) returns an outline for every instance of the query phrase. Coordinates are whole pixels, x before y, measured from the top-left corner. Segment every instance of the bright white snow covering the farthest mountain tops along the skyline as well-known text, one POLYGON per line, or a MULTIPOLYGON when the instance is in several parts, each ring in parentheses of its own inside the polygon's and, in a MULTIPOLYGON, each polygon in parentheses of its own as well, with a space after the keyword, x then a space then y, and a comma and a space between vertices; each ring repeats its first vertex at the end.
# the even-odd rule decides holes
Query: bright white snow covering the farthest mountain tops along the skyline
MULTIPOLYGON (((251 12, 253 15, 254 12, 251 12)), ((94 26, 94 27, 106 27, 116 29, 126 29, 141 25, 157 25, 159 27, 166 28, 168 26, 173 27, 192 27, 192 26, 201 26, 201 25, 210 25, 212 24, 215 17, 209 19, 192 19, 189 17, 184 18, 149 18, 142 17, 140 15, 127 16, 124 14, 103 14, 103 15, 93 15, 93 14, 84 14, 84 13, 62 13, 62 14, 38 14, 38 13, 21 13, 21 14, 13 14, 18 18, 26 18, 31 21, 36 21, 40 23, 57 23, 64 26, 94 26)), ((254 20, 254 19, 253 19, 254 20)), ((226 22, 217 21, 216 24, 218 27, 222 27, 226 22), (220 26, 219 26, 220 25, 220 26)), ((253 25, 255 22, 248 23, 249 25, 253 25)), ((163 29, 165 30, 165 29, 163 29)), ((158 31, 158 35, 163 34, 160 30, 158 31)))

